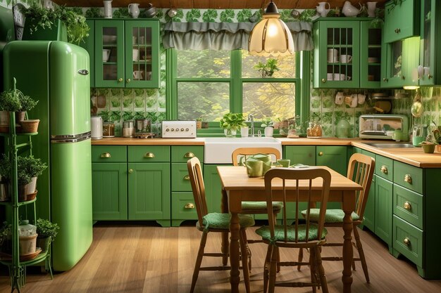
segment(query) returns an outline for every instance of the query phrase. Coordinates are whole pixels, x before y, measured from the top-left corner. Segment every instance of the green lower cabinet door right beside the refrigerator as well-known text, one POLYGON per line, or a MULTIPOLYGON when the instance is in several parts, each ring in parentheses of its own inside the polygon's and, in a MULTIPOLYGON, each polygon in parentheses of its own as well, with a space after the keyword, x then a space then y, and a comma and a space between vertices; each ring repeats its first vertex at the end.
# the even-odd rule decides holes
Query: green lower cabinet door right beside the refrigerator
POLYGON ((92 164, 92 219, 127 220, 127 164, 92 164))

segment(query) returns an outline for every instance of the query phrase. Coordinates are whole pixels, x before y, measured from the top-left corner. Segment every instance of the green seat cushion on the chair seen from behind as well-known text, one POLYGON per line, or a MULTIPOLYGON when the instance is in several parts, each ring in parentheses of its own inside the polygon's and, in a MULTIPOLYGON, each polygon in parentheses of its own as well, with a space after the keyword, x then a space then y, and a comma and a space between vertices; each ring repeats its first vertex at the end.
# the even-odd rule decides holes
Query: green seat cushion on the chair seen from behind
MULTIPOLYGON (((299 241, 305 242, 306 241, 306 225, 302 224, 298 226, 299 228, 299 241)), ((317 230, 318 226, 314 223, 311 223, 309 225, 309 237, 308 240, 317 240, 317 230)), ((262 226, 261 228, 256 230, 256 233, 262 237, 263 240, 269 240, 271 241, 271 232, 269 226, 262 226)), ((328 231, 323 228, 323 231, 321 233, 321 239, 325 239, 326 234, 328 234, 328 231)), ((275 241, 285 241, 285 232, 284 232, 284 226, 282 225, 276 225, 274 226, 274 236, 275 241)), ((289 242, 295 241, 295 226, 287 226, 287 240, 289 242)))

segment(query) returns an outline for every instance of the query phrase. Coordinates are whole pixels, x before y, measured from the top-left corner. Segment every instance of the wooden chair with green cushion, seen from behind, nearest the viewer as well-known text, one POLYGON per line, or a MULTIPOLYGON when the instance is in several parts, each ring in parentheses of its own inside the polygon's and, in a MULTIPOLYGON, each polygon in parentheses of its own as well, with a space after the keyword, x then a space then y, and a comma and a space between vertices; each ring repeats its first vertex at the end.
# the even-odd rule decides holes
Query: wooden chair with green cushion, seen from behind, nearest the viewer
MULTIPOLYGON (((268 226, 263 226, 256 230, 258 235, 261 235, 263 242, 268 244, 268 251, 266 253, 266 260, 263 272, 263 292, 274 292, 275 286, 280 287, 305 287, 311 286, 313 292, 316 292, 316 287, 322 287, 323 293, 328 293, 328 285, 326 282, 325 271, 321 263, 321 246, 325 243, 326 229, 323 227, 325 221, 326 203, 328 202, 330 190, 331 175, 326 169, 308 168, 308 169, 289 169, 289 168, 274 168, 265 174, 265 191, 268 212, 268 226), (311 182, 316 179, 322 179, 321 189, 312 190, 311 182), (280 182, 281 181, 281 182, 280 182), (277 182, 277 184, 275 184, 277 182), (273 185, 277 185, 274 187, 273 185), (315 202, 311 202, 311 193, 320 193, 321 209, 318 213, 318 221, 310 222, 310 218, 306 218, 305 223, 300 224, 299 219, 293 224, 287 224, 287 186, 293 193, 295 213, 299 212, 299 193, 306 193, 308 208, 310 209, 315 202), (295 190, 292 190, 294 189, 295 190), (282 225, 276 225, 271 207, 273 203, 273 195, 280 194, 283 197, 283 221, 282 225), (311 268, 311 282, 275 282, 277 265, 280 266, 297 266, 297 261, 278 261, 279 247, 287 248, 306 248, 309 249, 309 262, 300 263, 302 265, 308 264, 311 268)), ((305 198, 303 199, 305 200, 305 198)))

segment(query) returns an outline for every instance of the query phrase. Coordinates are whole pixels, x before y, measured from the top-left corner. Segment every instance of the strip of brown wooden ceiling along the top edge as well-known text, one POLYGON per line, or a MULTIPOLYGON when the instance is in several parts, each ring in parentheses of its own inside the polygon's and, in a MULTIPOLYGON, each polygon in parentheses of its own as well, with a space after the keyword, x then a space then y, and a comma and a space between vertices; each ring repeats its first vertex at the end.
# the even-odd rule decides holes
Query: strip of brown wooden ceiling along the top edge
MULTIPOLYGON (((80 7, 102 7, 102 0, 53 0, 56 4, 66 6, 80 6, 80 7)), ((383 7, 387 0, 378 0, 377 6, 383 7)), ((113 7, 127 7, 130 3, 139 3, 140 8, 146 8, 149 3, 153 4, 156 8, 170 8, 171 6, 175 8, 213 8, 213 9, 242 9, 242 8, 266 8, 270 0, 147 0, 147 1, 136 1, 136 0, 113 0, 113 7)), ((316 8, 318 2, 311 0, 273 0, 275 5, 279 9, 306 9, 306 8, 316 8)), ((328 1, 331 8, 343 7, 345 0, 330 0, 328 1)), ((358 6, 359 2, 361 4, 366 4, 367 0, 363 1, 350 1, 354 6, 358 6)))

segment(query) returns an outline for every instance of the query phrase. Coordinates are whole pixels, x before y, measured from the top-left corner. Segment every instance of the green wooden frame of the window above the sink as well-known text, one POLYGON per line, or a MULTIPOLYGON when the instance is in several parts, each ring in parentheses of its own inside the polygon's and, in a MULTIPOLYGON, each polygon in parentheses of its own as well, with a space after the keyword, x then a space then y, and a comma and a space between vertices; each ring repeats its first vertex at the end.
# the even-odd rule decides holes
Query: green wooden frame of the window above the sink
MULTIPOLYGON (((175 48, 166 50, 166 107, 167 119, 178 119, 178 84, 180 82, 225 82, 230 85, 230 112, 242 113, 242 90, 244 83, 268 83, 268 78, 242 78, 242 53, 240 49, 230 51, 230 77, 219 78, 178 78, 178 54, 175 48), (171 70, 169 70, 171 69, 171 70)), ((309 89, 311 75, 311 53, 301 51, 296 54, 296 69, 293 78, 271 78, 271 82, 295 84, 295 115, 302 122, 309 117, 309 89)), ((289 118, 289 117, 287 117, 289 118)), ((209 122, 210 129, 221 129, 219 122, 209 122)), ((198 129, 199 131, 199 129, 198 129)), ((213 132, 213 131, 211 131, 213 132)))

